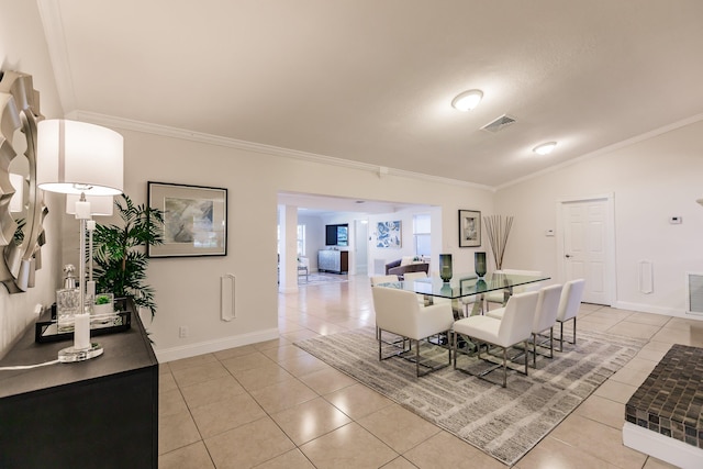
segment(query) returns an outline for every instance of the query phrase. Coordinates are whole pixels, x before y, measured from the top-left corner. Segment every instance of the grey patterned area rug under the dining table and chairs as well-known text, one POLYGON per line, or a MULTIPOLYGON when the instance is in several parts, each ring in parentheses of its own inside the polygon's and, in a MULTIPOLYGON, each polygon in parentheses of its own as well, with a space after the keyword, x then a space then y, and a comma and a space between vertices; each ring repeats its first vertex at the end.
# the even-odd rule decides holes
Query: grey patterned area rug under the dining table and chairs
MULTIPOLYGON (((554 359, 539 357, 537 369, 531 367, 528 377, 509 371, 507 388, 502 388, 502 370, 487 376, 496 382, 491 383, 451 366, 416 378, 413 362, 402 358, 379 362, 373 327, 295 343, 507 466, 539 443, 645 344, 641 339, 579 332, 576 346, 565 342, 563 353, 555 351, 554 359)), ((432 347, 423 350, 429 355, 445 353, 437 346, 424 347, 432 347)), ((446 355, 442 359, 446 361, 446 355)), ((486 362, 462 355, 458 366, 477 372, 486 368, 486 362)))

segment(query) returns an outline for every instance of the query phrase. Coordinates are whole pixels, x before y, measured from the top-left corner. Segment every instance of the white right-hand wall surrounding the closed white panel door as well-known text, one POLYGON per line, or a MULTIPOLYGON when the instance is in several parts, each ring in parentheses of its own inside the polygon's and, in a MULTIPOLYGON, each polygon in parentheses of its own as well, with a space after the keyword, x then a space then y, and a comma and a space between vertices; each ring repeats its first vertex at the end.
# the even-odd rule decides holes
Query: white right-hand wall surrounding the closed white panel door
MULTIPOLYGON (((515 221, 505 267, 555 277, 557 201, 614 194, 616 308, 682 315, 687 271, 703 272, 703 121, 499 190, 496 213, 515 221), (670 216, 682 216, 672 225, 670 216), (640 293, 637 263, 654 263, 654 292, 640 293)), ((559 280, 559 279, 557 279, 559 280)))

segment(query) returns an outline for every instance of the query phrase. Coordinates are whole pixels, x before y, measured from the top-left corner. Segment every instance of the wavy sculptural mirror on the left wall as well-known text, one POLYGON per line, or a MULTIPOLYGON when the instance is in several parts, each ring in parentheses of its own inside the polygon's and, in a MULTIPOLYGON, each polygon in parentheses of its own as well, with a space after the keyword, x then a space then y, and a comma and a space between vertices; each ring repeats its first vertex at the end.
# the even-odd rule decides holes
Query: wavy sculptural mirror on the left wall
POLYGON ((0 71, 0 281, 10 293, 34 287, 42 267, 48 210, 36 187, 36 124, 43 119, 32 76, 0 71))

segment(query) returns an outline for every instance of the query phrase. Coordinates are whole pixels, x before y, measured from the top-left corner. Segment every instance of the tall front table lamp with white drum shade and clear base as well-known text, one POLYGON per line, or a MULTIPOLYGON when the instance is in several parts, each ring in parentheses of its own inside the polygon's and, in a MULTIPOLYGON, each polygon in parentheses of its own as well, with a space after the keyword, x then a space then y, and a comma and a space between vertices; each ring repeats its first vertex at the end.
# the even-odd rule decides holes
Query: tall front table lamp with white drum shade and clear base
POLYGON ((92 212, 87 197, 122 193, 122 135, 85 122, 41 121, 37 125, 36 182, 40 189, 79 197, 72 203, 72 213, 80 220, 79 313, 75 315, 74 346, 59 350, 58 359, 69 362, 98 357, 103 349, 90 340, 90 312, 85 308, 86 226, 92 212))

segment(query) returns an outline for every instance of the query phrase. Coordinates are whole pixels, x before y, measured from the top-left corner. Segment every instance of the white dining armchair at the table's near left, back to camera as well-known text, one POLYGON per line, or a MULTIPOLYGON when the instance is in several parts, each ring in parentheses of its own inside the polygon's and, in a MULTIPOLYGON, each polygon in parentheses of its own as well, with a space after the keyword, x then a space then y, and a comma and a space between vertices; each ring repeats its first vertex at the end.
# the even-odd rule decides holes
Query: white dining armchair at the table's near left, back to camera
POLYGON ((442 333, 449 334, 451 325, 454 324, 454 314, 448 303, 422 306, 417 303, 416 295, 412 291, 393 288, 373 287, 371 293, 373 297, 373 310, 376 311, 376 325, 378 327, 379 361, 393 356, 404 356, 412 350, 412 343, 414 342, 415 375, 417 377, 451 364, 451 349, 449 347, 447 347, 446 365, 431 366, 423 364, 420 354, 421 340, 442 333), (400 347, 397 354, 383 357, 383 344, 388 344, 382 340, 383 331, 409 339, 410 347, 405 348, 405 340, 403 340, 403 346, 400 347), (421 366, 427 367, 429 370, 421 373, 421 366))

